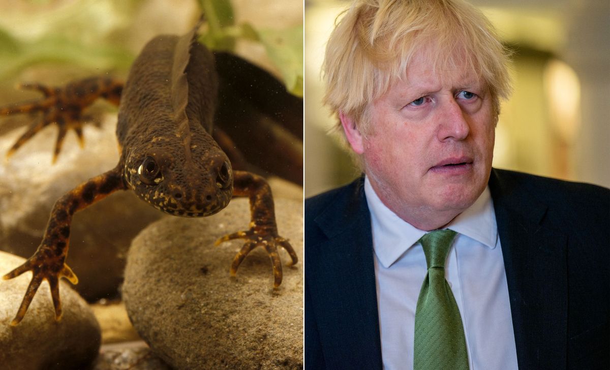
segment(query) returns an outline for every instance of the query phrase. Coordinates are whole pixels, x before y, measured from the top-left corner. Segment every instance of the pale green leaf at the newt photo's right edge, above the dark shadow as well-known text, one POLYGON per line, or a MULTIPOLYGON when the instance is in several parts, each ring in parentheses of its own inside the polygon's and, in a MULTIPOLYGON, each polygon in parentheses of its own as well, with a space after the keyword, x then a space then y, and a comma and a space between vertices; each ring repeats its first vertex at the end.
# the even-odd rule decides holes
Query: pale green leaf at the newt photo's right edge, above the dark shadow
POLYGON ((279 69, 287 90, 303 96, 303 27, 261 29, 258 35, 268 57, 279 69))

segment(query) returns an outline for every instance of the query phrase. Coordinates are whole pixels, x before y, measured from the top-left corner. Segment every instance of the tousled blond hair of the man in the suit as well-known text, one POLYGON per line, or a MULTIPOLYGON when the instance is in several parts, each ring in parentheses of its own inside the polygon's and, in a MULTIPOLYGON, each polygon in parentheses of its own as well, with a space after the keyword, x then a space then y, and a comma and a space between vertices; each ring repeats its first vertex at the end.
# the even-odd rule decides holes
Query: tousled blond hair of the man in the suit
POLYGON ((370 133, 371 103, 406 77, 423 50, 432 50, 426 57, 433 69, 465 61, 500 112, 500 99, 511 92, 509 52, 483 13, 462 0, 355 0, 326 45, 323 102, 370 133))

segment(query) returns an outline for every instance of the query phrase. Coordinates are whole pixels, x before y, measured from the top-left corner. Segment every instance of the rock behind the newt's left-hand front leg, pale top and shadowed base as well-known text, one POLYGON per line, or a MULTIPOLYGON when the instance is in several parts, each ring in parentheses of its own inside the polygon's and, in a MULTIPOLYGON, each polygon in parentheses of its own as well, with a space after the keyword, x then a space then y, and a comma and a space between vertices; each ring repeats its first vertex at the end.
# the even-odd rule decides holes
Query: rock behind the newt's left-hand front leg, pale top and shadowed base
MULTIPOLYGON (((118 162, 116 115, 100 128, 85 126, 85 148, 68 133, 57 163, 52 148, 57 130, 47 127, 12 157, 0 161, 0 249, 30 257, 45 232, 53 204, 67 191, 118 162)), ((4 157, 23 128, 0 137, 4 157)), ((74 215, 66 262, 79 277, 76 290, 88 300, 117 294, 131 240, 162 213, 119 191, 74 215)))

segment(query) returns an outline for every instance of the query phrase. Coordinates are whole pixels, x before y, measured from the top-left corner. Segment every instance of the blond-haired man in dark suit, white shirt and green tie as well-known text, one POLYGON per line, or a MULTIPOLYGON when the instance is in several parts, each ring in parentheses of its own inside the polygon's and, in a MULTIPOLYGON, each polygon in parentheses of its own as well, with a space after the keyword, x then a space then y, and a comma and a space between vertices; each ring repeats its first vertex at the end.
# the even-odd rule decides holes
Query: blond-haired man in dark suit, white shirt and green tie
POLYGON ((307 369, 609 368, 610 191, 492 168, 507 60, 460 0, 337 24, 325 103, 364 176, 306 201, 307 369))

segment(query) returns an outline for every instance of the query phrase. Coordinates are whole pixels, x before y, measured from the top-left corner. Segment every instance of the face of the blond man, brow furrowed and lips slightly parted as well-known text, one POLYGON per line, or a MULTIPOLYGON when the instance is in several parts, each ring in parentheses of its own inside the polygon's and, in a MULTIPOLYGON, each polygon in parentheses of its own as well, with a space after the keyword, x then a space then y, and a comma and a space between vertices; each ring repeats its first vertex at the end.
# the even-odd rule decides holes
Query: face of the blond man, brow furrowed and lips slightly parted
POLYGON ((407 78, 373 102, 373 133, 355 129, 355 143, 348 133, 381 201, 425 230, 444 226, 483 192, 495 138, 492 99, 477 74, 459 63, 431 65, 415 58, 407 78))

